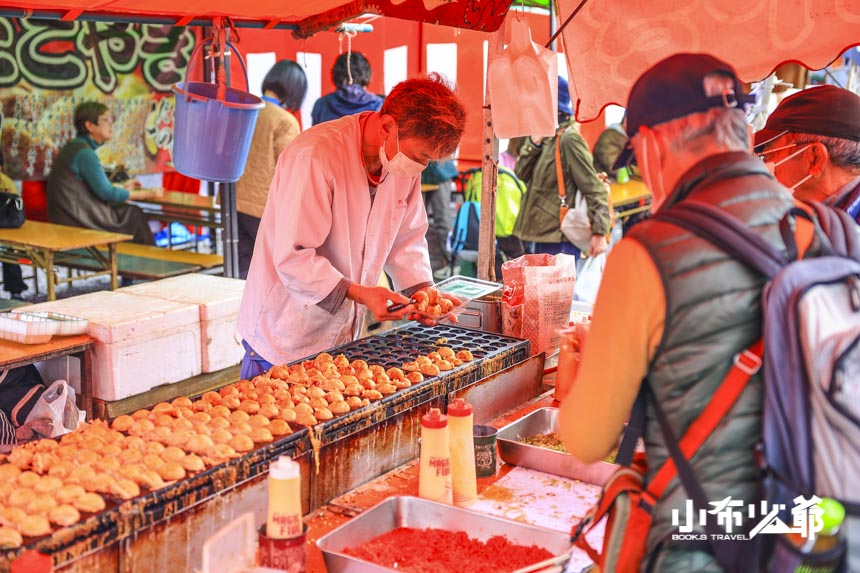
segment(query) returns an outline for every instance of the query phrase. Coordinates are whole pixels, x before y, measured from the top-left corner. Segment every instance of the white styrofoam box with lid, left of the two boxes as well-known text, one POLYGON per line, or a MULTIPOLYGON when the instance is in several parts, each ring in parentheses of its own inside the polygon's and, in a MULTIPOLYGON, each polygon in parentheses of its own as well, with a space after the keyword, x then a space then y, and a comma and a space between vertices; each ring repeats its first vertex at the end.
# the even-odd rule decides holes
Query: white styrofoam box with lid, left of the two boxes
POLYGON ((93 396, 120 400, 200 374, 200 311, 196 305, 94 292, 21 307, 90 321, 93 396))

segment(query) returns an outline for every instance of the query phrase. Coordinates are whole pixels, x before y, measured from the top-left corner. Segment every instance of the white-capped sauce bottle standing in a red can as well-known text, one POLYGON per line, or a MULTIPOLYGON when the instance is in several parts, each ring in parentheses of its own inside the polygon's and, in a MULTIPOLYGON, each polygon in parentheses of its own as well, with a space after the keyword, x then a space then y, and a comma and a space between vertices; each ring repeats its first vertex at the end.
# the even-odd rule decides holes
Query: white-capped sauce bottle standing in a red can
POLYGON ((279 456, 269 466, 267 537, 290 539, 304 533, 301 484, 299 464, 289 456, 279 456))

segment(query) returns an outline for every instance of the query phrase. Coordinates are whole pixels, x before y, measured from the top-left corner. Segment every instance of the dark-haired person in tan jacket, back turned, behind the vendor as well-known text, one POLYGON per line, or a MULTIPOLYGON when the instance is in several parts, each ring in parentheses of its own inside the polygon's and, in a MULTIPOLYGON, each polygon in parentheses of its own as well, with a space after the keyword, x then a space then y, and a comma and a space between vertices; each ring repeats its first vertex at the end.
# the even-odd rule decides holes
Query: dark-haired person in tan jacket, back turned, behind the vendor
POLYGON ((266 73, 262 88, 266 107, 257 116, 245 172, 236 182, 240 279, 248 276, 260 217, 263 216, 278 157, 301 131, 293 114, 302 107, 308 92, 308 80, 299 64, 280 60, 266 73))

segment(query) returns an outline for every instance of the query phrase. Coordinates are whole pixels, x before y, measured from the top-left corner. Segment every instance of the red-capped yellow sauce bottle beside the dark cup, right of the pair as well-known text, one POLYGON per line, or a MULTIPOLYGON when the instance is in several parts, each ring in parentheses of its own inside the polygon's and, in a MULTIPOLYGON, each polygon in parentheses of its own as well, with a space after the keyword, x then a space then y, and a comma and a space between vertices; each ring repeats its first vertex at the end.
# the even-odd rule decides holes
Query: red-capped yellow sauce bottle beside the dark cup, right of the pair
POLYGON ((448 406, 448 424, 451 435, 451 483, 454 487, 454 505, 465 507, 478 500, 478 483, 475 478, 475 437, 473 435, 472 406, 457 398, 448 406))

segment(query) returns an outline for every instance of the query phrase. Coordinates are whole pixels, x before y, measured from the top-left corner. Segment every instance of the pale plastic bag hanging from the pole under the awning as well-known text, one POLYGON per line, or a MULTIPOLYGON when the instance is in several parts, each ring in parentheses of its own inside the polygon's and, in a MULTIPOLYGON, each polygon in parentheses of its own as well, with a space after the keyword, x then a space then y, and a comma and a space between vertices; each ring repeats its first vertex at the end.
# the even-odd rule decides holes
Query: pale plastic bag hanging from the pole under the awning
POLYGON ((532 42, 525 19, 511 21, 511 44, 490 61, 487 82, 496 137, 555 135, 558 58, 532 42))

